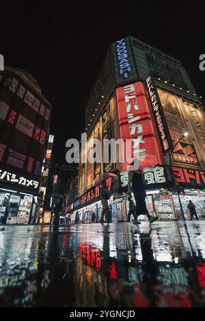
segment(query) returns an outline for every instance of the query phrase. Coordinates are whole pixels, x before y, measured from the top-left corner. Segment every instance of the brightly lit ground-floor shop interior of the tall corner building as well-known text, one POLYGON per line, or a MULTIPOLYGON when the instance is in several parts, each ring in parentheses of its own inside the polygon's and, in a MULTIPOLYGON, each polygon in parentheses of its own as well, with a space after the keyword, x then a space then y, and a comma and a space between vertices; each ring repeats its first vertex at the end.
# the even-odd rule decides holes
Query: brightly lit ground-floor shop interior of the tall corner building
MULTIPOLYGON (((194 203, 197 216, 200 219, 205 218, 205 190, 184 189, 183 192, 178 194, 178 192, 170 192, 165 188, 161 188, 160 190, 148 190, 146 194, 148 211, 151 216, 158 215, 159 220, 182 219, 180 203, 184 218, 189 220, 190 214, 187 209, 189 200, 194 203)), ((112 222, 126 221, 128 217, 127 195, 122 194, 121 197, 115 195, 111 196, 109 200, 109 209, 112 222)), ((94 222, 99 222, 102 213, 102 205, 100 201, 81 207, 80 209, 72 209, 71 205, 71 210, 71 213, 66 214, 66 218, 69 218, 70 224, 75 223, 76 214, 79 215, 79 223, 92 223, 93 213, 95 214, 94 222)), ((131 220, 133 220, 132 216, 131 220)), ((147 220, 147 217, 141 215, 139 216, 139 220, 147 220)))

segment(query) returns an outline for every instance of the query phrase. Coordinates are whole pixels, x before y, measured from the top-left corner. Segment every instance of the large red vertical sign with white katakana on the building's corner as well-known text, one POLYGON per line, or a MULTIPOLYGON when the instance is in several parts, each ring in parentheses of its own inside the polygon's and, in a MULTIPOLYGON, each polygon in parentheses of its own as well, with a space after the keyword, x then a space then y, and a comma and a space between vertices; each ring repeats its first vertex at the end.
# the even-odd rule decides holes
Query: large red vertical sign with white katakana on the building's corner
POLYGON ((124 158, 148 158, 150 166, 151 157, 153 166, 162 164, 159 138, 144 84, 139 81, 120 87, 116 90, 116 97, 120 138, 131 141, 131 155, 125 154, 124 158))

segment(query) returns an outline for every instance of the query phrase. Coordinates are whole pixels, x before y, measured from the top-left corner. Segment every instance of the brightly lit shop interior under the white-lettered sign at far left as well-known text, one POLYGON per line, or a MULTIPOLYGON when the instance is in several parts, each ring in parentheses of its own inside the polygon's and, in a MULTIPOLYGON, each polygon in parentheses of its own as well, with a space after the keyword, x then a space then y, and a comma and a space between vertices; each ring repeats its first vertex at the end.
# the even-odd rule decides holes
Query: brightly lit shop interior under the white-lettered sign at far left
POLYGON ((33 224, 38 196, 0 189, 0 224, 33 224))

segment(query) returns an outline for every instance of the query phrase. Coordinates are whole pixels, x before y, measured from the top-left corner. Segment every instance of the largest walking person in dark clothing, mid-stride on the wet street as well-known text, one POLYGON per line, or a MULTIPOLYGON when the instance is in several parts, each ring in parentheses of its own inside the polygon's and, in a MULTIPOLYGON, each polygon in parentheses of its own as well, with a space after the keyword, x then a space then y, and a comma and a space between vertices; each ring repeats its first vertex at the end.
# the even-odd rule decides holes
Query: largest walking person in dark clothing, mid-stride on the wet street
POLYGON ((158 217, 152 218, 148 212, 146 206, 146 190, 143 183, 143 175, 141 169, 138 170, 129 170, 128 171, 128 192, 131 193, 131 183, 133 188, 133 194, 135 197, 136 211, 135 211, 135 220, 134 224, 139 224, 137 217, 139 215, 146 215, 150 223, 157 220, 158 217))

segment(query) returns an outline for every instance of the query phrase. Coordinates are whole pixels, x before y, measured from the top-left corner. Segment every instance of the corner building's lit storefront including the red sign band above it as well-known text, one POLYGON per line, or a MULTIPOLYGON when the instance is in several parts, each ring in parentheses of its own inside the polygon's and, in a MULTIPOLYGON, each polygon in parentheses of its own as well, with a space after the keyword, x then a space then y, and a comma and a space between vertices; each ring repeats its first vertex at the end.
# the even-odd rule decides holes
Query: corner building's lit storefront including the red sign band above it
MULTIPOLYGON (((145 168, 143 177, 146 182, 146 205, 151 216, 157 215, 159 220, 189 220, 187 205, 191 200, 197 216, 200 219, 205 218, 205 175, 202 170, 176 167, 171 170, 170 166, 155 166, 145 168)), ((115 189, 111 188, 111 185, 108 186, 111 192, 111 222, 125 222, 128 217, 128 172, 119 173, 118 189, 116 186, 115 189)), ((99 188, 92 188, 68 205, 67 212, 72 213, 71 223, 75 222, 76 214, 80 223, 91 223, 93 215, 94 222, 99 222, 102 213, 99 188)), ((148 218, 139 216, 139 220, 148 218)))

